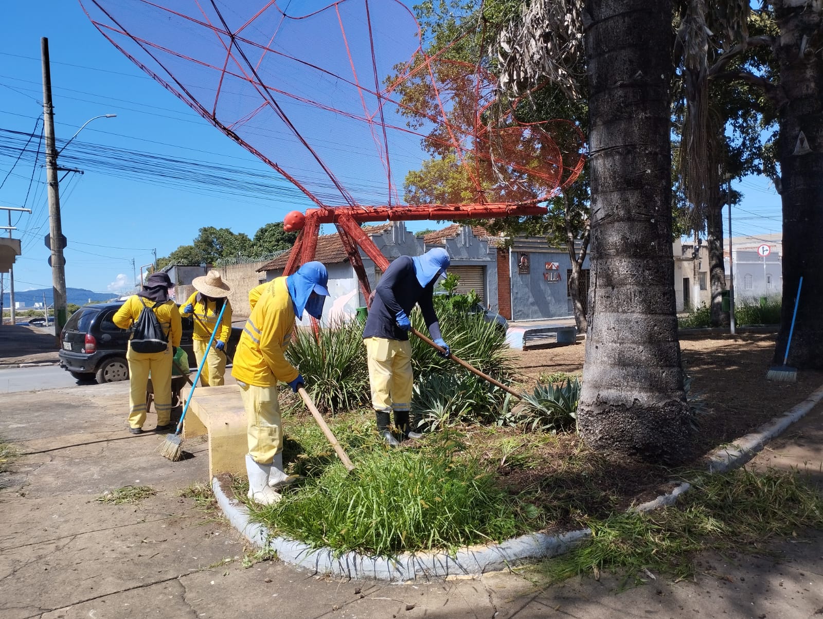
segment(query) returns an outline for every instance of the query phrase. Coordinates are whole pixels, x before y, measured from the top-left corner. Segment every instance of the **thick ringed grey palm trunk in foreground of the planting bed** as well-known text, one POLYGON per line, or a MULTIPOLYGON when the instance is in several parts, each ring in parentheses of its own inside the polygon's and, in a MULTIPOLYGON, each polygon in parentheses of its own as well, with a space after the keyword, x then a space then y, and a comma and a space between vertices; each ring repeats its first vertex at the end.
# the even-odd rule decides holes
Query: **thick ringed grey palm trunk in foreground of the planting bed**
POLYGON ((592 240, 578 428, 594 449, 690 453, 672 258, 670 0, 587 0, 592 240))

